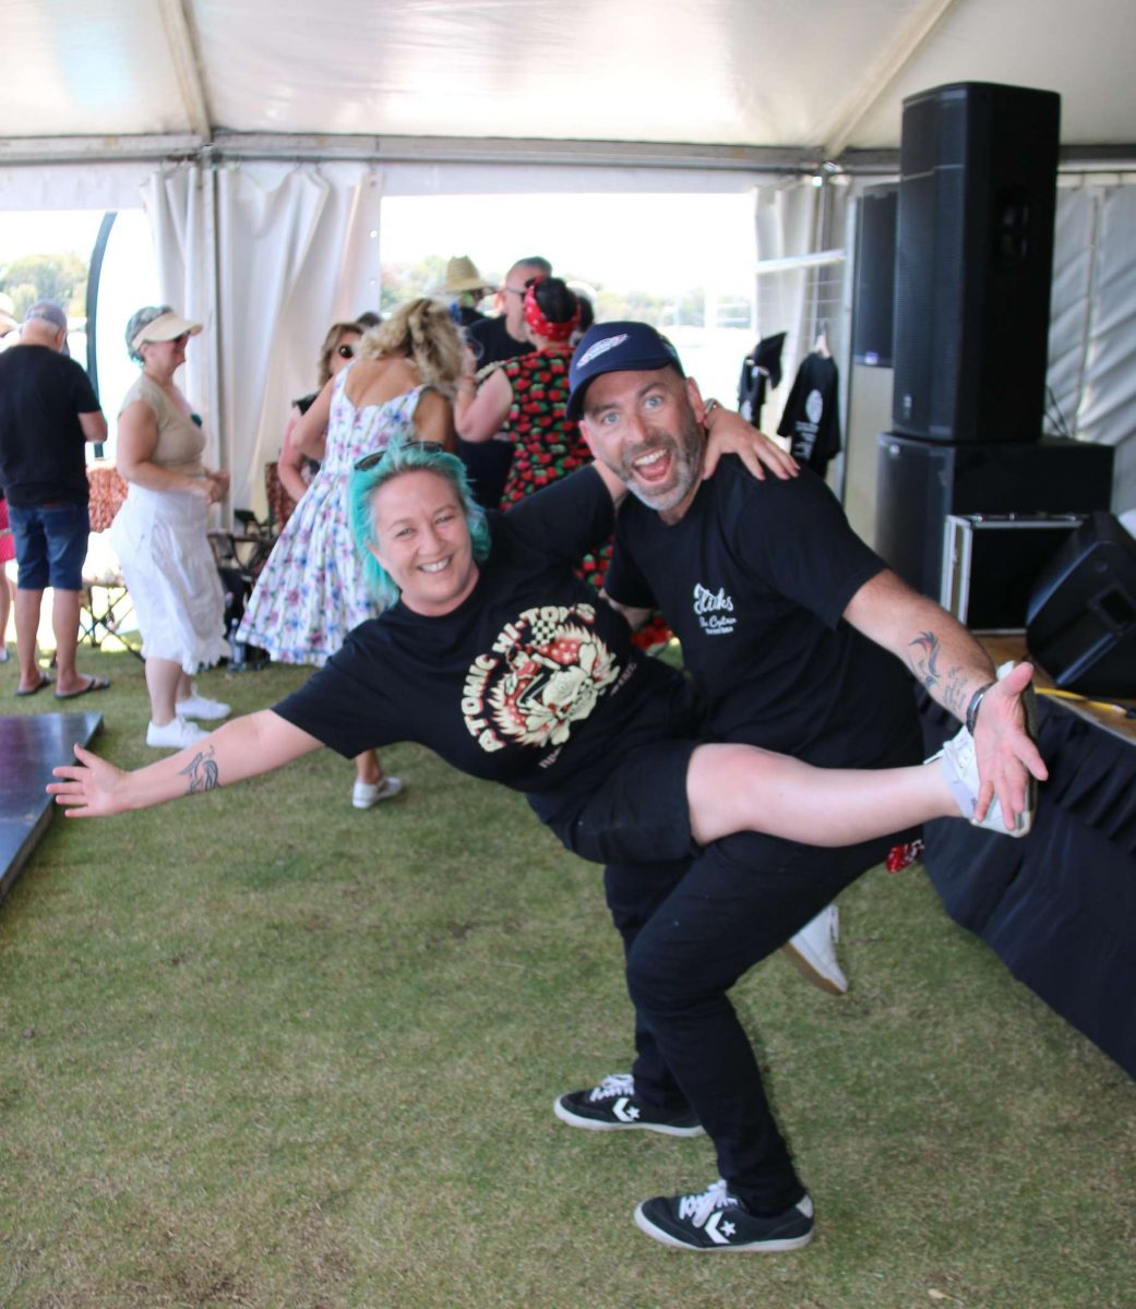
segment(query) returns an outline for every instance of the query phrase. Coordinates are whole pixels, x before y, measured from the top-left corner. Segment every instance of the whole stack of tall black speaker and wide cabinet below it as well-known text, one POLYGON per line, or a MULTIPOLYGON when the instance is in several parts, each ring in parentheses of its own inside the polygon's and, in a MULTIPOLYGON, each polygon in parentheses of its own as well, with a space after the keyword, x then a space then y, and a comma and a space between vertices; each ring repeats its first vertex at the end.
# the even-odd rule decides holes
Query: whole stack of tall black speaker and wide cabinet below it
POLYGON ((876 539, 934 598, 948 514, 1109 508, 1112 449, 1042 436, 1059 126, 1060 97, 1022 86, 959 82, 903 102, 876 539))

